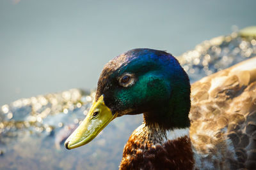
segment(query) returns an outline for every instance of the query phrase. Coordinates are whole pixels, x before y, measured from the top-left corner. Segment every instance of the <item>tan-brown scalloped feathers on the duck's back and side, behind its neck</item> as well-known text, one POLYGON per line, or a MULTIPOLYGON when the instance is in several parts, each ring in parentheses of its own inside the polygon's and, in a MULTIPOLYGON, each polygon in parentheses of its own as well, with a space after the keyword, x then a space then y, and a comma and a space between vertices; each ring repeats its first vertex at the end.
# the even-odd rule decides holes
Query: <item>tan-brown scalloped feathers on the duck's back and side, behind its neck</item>
POLYGON ((191 86, 198 169, 256 169, 256 57, 191 86))

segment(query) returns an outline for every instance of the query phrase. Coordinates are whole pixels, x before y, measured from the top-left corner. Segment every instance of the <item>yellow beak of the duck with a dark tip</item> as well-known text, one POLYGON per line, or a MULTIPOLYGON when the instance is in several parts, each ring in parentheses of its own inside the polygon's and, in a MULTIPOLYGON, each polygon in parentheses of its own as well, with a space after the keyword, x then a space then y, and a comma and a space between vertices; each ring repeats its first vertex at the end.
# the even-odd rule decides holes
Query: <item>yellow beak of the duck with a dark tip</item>
POLYGON ((66 148, 70 150, 89 143, 116 116, 117 113, 112 115, 111 110, 103 101, 103 96, 100 96, 97 102, 93 102, 92 108, 83 122, 65 141, 66 148))

